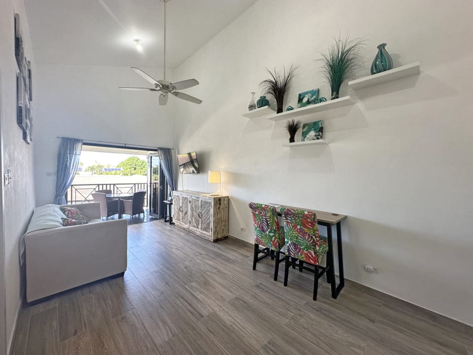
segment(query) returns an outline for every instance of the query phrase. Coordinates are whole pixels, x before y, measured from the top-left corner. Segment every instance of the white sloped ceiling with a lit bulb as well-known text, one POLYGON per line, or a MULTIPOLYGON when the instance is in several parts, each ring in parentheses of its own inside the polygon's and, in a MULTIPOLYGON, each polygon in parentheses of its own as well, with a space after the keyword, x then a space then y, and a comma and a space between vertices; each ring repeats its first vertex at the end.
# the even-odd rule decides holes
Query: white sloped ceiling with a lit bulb
MULTIPOLYGON (((176 68, 255 1, 170 0, 167 67, 176 68)), ((163 66, 160 0, 25 0, 25 6, 37 63, 163 66)))

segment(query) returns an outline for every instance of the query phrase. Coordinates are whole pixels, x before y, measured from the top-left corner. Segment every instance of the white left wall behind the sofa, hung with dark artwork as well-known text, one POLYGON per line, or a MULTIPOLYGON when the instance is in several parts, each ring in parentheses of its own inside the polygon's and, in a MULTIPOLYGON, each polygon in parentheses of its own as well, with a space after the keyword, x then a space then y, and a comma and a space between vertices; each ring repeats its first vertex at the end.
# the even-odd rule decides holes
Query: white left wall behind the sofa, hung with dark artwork
MULTIPOLYGON (((10 169, 13 180, 3 188, 2 224, 4 238, 4 287, 5 287, 5 340, 9 344, 24 286, 18 258, 18 241, 25 232, 34 208, 33 148, 23 141, 21 129, 16 124, 16 73, 14 14, 20 14, 25 55, 32 62, 33 95, 35 90, 35 67, 31 48, 28 21, 22 0, 0 0, 0 69, 1 69, 1 137, 2 170, 10 169)), ((33 97, 33 113, 36 104, 33 97)), ((1 280, 3 282, 3 280, 1 280)), ((1 289, 1 287, 0 287, 1 289)), ((0 297, 1 298, 1 297, 0 297)), ((1 316, 1 312, 0 312, 1 316)), ((1 329, 1 327, 0 327, 1 329)), ((0 337, 0 340, 2 337, 0 337)), ((6 352, 0 344, 0 354, 6 352)))

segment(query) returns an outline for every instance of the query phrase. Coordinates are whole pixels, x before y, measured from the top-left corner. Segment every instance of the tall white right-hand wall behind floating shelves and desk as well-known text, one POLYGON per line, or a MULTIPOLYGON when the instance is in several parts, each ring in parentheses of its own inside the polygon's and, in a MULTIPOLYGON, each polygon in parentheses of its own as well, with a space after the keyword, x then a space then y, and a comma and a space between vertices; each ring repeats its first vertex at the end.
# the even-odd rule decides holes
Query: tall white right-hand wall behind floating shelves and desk
POLYGON ((230 234, 249 242, 250 201, 347 214, 347 278, 473 325, 472 10, 467 1, 259 0, 176 70, 177 80, 200 80, 186 92, 203 99, 176 107, 177 152, 197 150, 203 173, 185 176, 184 188, 213 191, 206 172, 222 170, 230 234), (300 65, 285 106, 317 87, 329 98, 314 59, 347 32, 366 36, 360 77, 382 42, 395 66, 420 60, 422 74, 304 117, 325 120, 326 146, 282 147, 284 122, 241 117, 264 67, 300 65))

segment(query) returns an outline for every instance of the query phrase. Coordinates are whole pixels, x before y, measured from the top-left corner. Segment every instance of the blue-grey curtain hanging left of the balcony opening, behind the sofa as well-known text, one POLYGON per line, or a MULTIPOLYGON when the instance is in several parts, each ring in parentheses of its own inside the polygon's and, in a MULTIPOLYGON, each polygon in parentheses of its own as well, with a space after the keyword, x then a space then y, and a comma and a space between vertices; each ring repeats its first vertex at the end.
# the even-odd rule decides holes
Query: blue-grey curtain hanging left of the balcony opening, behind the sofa
POLYGON ((58 151, 58 167, 56 172, 56 205, 66 205, 66 192, 72 184, 72 180, 79 166, 82 140, 75 138, 61 138, 58 151))

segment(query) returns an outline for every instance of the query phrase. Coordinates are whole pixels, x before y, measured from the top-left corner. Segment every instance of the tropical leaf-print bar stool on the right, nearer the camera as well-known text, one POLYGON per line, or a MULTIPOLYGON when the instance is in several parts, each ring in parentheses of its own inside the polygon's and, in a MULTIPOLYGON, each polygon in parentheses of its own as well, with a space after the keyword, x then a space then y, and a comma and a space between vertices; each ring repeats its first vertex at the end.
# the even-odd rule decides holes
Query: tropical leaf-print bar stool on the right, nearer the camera
POLYGON ((281 208, 284 221, 284 235, 286 238, 286 263, 284 268, 284 286, 287 286, 289 267, 295 267, 296 259, 299 260, 299 270, 314 273, 313 300, 317 299, 319 278, 325 273, 333 277, 333 270, 329 266, 319 266, 323 256, 329 249, 327 238, 319 236, 317 217, 314 212, 281 208), (291 258, 291 261, 289 260, 291 258), (313 265, 314 268, 304 266, 304 263, 313 265), (322 272, 319 274, 319 268, 322 272))

